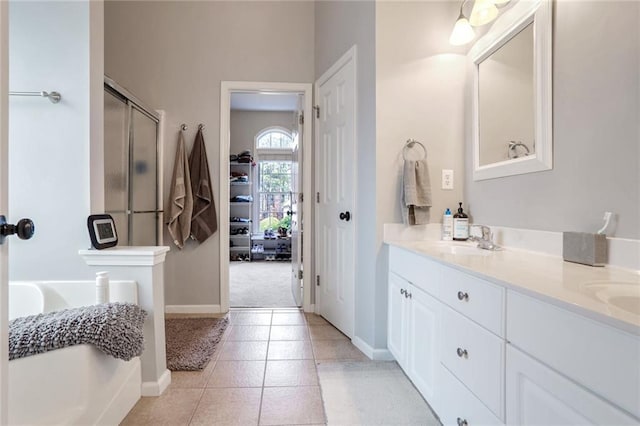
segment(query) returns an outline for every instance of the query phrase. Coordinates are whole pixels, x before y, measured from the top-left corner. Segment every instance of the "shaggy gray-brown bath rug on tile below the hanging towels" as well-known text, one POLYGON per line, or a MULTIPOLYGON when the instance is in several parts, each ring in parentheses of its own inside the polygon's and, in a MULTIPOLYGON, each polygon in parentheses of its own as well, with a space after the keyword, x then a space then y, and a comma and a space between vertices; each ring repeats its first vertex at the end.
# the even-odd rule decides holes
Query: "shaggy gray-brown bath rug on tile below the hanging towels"
POLYGON ((227 318, 167 318, 167 368, 171 371, 202 370, 222 339, 227 318))

